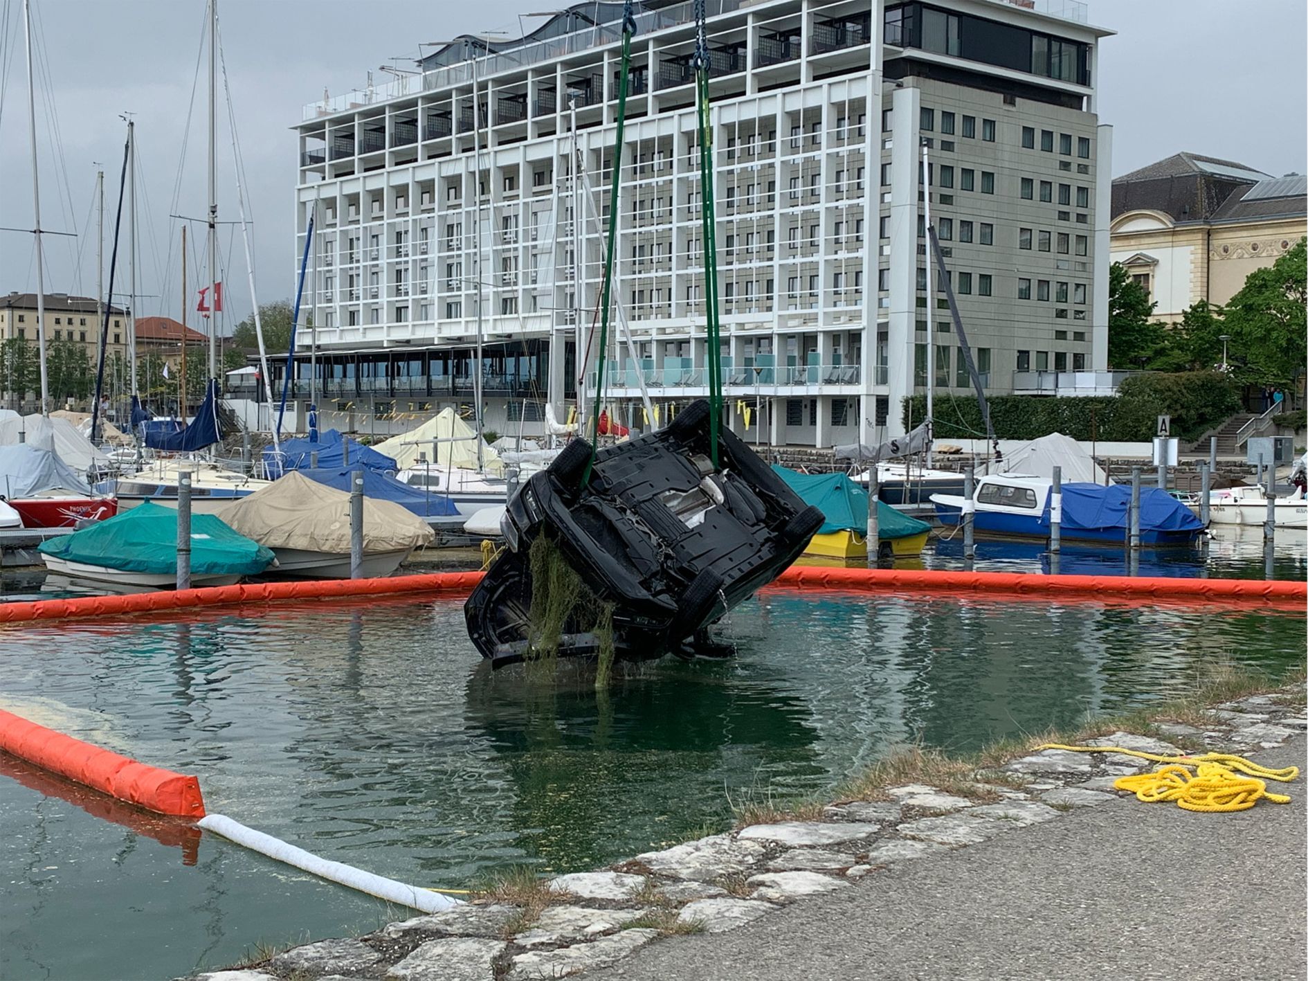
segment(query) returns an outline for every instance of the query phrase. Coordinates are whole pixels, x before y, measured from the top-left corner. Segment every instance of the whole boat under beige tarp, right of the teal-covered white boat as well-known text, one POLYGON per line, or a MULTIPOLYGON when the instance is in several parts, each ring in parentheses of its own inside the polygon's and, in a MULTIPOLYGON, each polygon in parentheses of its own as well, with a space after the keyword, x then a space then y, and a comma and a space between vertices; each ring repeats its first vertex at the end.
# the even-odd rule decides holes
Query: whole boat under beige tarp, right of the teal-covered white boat
MULTIPOLYGON (((271 574, 311 579, 351 577, 349 493, 290 471, 269 487, 229 501, 217 518, 235 532, 272 549, 271 574)), ((391 501, 364 497, 365 578, 392 574, 415 548, 436 532, 416 514, 391 501)))

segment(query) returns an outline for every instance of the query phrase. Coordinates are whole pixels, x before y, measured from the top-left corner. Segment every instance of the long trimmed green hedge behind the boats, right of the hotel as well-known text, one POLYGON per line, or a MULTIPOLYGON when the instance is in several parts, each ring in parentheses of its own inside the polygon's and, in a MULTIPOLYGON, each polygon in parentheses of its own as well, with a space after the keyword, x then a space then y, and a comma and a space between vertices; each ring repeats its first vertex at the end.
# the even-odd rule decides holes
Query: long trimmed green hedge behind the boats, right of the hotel
MULTIPOLYGON (((1137 442, 1151 439, 1158 417, 1172 417, 1172 436, 1198 439, 1205 432, 1240 411, 1235 383, 1215 371, 1150 373, 1131 375, 1117 395, 1056 398, 997 395, 986 399, 990 422, 1001 439, 1036 439, 1063 433, 1074 439, 1137 442)), ((926 415, 926 396, 904 400, 904 424, 926 415)), ((967 439, 985 436, 976 396, 935 396, 935 438, 967 439)))

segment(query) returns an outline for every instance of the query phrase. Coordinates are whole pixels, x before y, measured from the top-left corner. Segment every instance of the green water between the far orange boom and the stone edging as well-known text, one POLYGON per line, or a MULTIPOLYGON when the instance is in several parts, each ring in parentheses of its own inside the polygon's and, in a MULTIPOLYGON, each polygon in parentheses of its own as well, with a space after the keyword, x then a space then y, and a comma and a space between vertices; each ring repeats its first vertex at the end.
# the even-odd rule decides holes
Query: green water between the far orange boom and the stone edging
MULTIPOLYGON (((821 793, 903 740, 972 748, 1165 697, 1203 662, 1277 674, 1304 651, 1295 613, 777 591, 722 634, 734 659, 596 695, 568 667, 489 672, 449 600, 69 621, 0 633, 0 708, 196 773, 211 812, 327 858, 466 887, 723 827, 729 799, 821 793)), ((403 916, 18 777, 0 778, 5 978, 173 977, 403 916)))

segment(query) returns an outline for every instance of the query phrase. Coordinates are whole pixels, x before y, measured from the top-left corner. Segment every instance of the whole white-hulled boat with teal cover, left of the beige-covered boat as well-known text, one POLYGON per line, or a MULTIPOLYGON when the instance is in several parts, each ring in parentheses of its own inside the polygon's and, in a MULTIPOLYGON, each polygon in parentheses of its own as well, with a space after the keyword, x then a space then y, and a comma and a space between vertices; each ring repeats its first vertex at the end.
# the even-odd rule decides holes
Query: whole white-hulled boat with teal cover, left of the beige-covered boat
MULTIPOLYGON (((72 535, 42 542, 46 568, 112 586, 169 589, 177 583, 177 509, 145 501, 72 535)), ((191 517, 191 585, 230 586, 276 561, 212 514, 191 517)))

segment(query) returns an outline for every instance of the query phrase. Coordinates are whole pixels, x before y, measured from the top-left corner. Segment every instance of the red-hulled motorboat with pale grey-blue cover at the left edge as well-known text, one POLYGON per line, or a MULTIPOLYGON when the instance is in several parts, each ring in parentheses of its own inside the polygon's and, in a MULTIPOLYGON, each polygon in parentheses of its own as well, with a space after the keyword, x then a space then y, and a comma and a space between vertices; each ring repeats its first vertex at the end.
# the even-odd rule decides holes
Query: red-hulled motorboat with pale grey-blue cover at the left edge
POLYGON ((94 493, 54 450, 31 443, 0 446, 0 500, 30 530, 69 528, 118 513, 112 496, 94 493))

